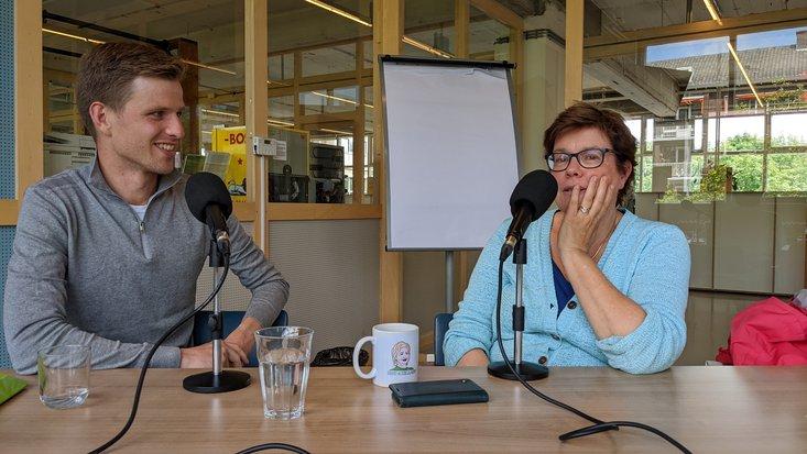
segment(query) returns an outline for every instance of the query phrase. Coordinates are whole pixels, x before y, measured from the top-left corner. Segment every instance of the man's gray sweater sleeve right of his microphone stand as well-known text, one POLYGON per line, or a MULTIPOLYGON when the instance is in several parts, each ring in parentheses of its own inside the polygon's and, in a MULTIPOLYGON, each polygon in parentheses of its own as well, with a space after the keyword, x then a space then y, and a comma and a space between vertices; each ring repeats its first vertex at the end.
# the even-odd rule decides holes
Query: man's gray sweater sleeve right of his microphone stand
POLYGON ((230 230, 230 269, 241 285, 252 292, 244 317, 252 317, 262 326, 272 324, 288 300, 288 283, 247 234, 236 215, 227 220, 230 230))

